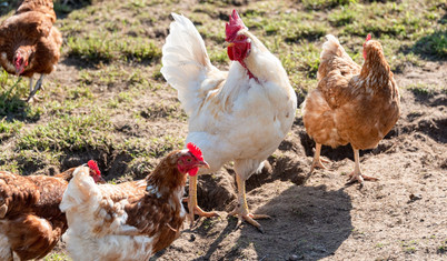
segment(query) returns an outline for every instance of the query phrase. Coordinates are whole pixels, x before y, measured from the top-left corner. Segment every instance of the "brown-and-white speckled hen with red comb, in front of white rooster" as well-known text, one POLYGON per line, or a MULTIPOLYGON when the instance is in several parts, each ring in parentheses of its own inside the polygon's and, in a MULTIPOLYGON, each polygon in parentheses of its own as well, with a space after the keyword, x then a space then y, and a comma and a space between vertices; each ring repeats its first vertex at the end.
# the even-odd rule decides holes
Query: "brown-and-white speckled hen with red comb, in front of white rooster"
POLYGON ((180 235, 188 174, 209 168, 192 143, 173 151, 146 179, 95 184, 88 169, 74 170, 60 209, 69 229, 70 257, 83 260, 149 260, 180 235))

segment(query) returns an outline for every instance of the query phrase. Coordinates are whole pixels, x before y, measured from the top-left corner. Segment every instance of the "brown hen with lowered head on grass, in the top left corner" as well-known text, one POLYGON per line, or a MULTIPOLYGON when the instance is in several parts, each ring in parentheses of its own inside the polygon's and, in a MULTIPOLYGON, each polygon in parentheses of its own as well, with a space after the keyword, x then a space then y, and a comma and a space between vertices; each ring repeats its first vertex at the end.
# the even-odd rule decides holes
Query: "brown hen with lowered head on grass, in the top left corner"
POLYGON ((52 0, 24 0, 0 24, 0 64, 8 73, 30 79, 28 101, 59 61, 62 37, 53 27, 54 21, 52 0), (40 78, 33 88, 34 73, 40 78))

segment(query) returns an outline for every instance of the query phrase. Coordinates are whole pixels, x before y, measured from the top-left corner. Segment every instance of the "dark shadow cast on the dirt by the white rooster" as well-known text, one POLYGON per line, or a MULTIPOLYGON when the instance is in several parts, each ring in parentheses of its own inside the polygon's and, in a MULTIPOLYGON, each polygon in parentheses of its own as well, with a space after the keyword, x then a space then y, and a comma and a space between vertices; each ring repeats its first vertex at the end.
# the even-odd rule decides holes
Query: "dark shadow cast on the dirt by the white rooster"
POLYGON ((196 233, 208 235, 212 242, 195 261, 289 260, 292 255, 299 260, 319 260, 330 257, 352 231, 351 209, 350 198, 344 189, 329 191, 326 185, 292 185, 257 209, 256 212, 272 218, 260 221, 265 233, 242 224, 241 235, 225 254, 222 243, 235 231, 237 220, 229 218, 218 235, 208 234, 203 222, 196 233))

